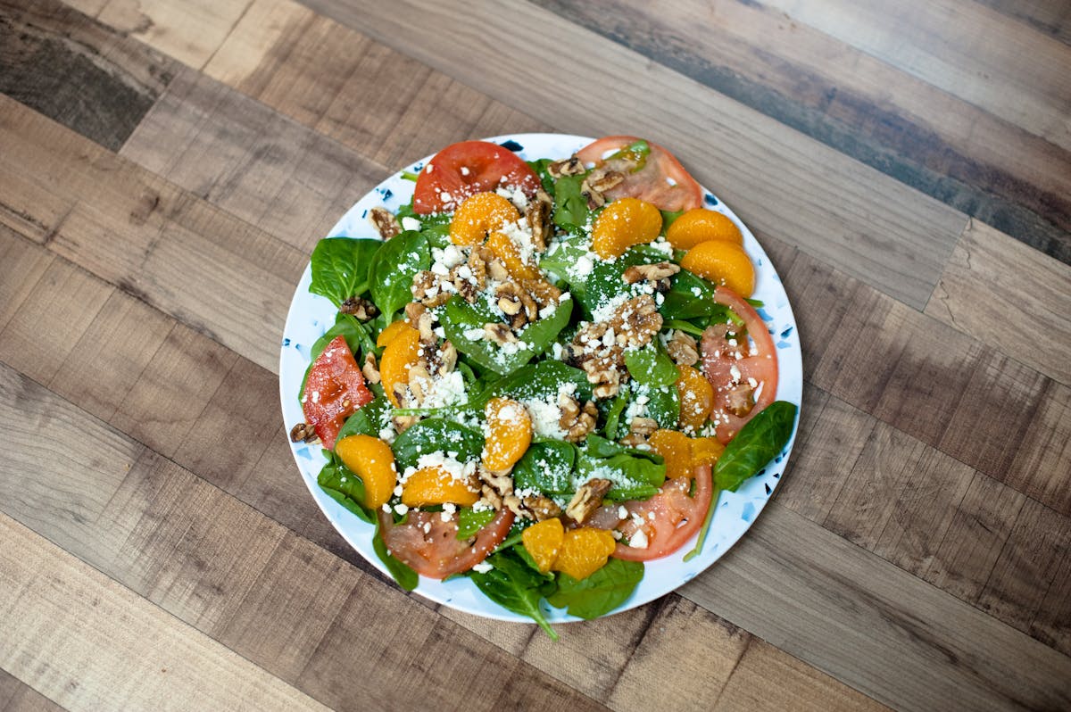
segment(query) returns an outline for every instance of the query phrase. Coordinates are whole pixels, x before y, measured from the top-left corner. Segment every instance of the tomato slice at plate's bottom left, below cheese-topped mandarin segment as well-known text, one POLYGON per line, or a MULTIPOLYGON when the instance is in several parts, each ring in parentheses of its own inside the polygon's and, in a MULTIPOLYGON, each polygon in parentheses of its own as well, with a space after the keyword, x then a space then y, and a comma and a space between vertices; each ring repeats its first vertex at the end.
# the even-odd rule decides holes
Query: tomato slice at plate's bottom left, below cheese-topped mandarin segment
POLYGON ((513 512, 504 506, 472 540, 457 539, 457 515, 442 520, 441 512, 410 510, 406 520, 394 524, 379 510, 379 531, 390 552, 421 576, 443 579, 468 571, 487 558, 513 526, 513 512))

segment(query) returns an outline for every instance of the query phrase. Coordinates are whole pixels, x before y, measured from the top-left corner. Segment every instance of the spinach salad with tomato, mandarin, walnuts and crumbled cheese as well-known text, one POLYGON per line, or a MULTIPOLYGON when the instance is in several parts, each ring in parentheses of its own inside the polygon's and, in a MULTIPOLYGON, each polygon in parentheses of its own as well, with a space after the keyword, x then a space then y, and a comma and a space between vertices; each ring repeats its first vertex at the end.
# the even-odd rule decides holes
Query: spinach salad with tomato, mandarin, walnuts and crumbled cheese
POLYGON ((378 239, 319 242, 308 290, 336 312, 290 437, 399 586, 465 577, 555 637, 547 606, 612 612, 697 556, 797 406, 739 227, 669 152, 511 148, 449 146, 364 212, 378 239))

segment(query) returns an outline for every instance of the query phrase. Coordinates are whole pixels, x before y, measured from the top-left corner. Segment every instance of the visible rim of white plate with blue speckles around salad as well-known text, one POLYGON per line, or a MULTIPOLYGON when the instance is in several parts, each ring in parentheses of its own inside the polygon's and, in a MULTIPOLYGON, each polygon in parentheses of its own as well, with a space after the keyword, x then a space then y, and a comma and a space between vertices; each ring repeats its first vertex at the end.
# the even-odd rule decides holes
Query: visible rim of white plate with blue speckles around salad
MULTIPOLYGON (((509 143, 509 148, 515 150, 522 158, 534 161, 543 157, 567 157, 574 151, 590 143, 592 139, 583 136, 564 136, 560 134, 517 134, 512 136, 497 136, 486 140, 497 143, 512 141, 512 143, 509 143)), ((422 161, 418 161, 407 167, 406 170, 419 172, 431 157, 427 156, 422 161)), ((409 199, 412 197, 412 181, 402 178, 401 173, 392 176, 350 208, 328 237, 378 238, 379 236, 375 228, 367 221, 368 210, 376 206, 382 206, 392 212, 396 211, 401 206, 409 202, 409 199)), ((803 370, 800 359, 799 336, 796 332, 796 319, 793 317, 788 298, 781 285, 781 278, 748 227, 710 192, 704 190, 704 194, 707 208, 727 215, 743 233, 744 247, 755 264, 754 299, 761 300, 765 304, 759 309, 759 314, 770 328, 773 342, 778 347, 778 364, 780 368, 778 399, 799 405, 803 392, 803 370)), ((317 338, 331 328, 336 314, 330 301, 310 293, 308 284, 311 281, 312 272, 306 267, 305 273, 302 275, 301 282, 298 283, 298 288, 293 293, 290 312, 286 317, 286 327, 283 330, 283 349, 280 357, 278 373, 280 393, 283 400, 283 418, 286 422, 287 430, 296 423, 304 421, 304 415, 298 403, 298 391, 301 388, 301 379, 304 376, 305 368, 308 366, 308 349, 317 338)), ((755 517, 758 516, 758 513, 763 511, 773 489, 778 486, 781 473, 784 472, 788 454, 791 452, 793 442, 796 439, 798 423, 799 420, 797 418, 797 425, 793 427, 793 436, 785 446, 784 452, 774 459, 763 474, 749 480, 736 493, 721 493, 715 503, 716 511, 711 524, 710 533, 707 536, 707 542, 703 547, 703 552, 691 561, 683 561, 684 552, 689 551, 693 546, 693 543, 689 543, 673 556, 648 562, 644 579, 636 587, 632 596, 614 612, 628 610, 629 608, 653 601, 691 580, 710 566, 710 564, 718 561, 748 531, 748 528, 755 520, 755 517)), ((374 530, 372 525, 358 519, 352 513, 338 504, 338 502, 328 497, 320 489, 319 485, 317 485, 316 475, 325 463, 320 445, 291 443, 290 450, 293 452, 293 458, 298 463, 301 476, 308 486, 313 499, 319 504, 320 510, 323 511, 328 520, 338 530, 338 533, 342 534, 350 546, 360 551, 368 562, 390 577, 390 574, 373 550, 372 534, 374 530)), ((436 581, 421 577, 420 586, 417 587, 417 593, 437 603, 477 616, 499 620, 531 622, 530 619, 493 603, 467 578, 436 581)), ((562 609, 548 606, 546 602, 543 603, 543 607, 547 619, 552 623, 578 620, 565 613, 562 609)))

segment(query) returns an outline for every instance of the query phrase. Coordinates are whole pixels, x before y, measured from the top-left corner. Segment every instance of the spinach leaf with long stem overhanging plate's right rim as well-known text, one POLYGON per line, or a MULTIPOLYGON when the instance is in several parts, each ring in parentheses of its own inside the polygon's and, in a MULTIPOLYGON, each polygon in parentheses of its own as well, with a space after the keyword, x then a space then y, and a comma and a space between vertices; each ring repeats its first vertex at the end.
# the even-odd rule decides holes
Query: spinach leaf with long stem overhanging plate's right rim
POLYGON ((718 493, 722 489, 736 491, 745 480, 757 474, 784 450, 793 435, 796 411, 795 404, 775 400, 748 421, 736 437, 729 440, 711 473, 714 480, 714 501, 707 510, 695 548, 684 555, 684 561, 693 559, 703 550, 703 543, 707 540, 710 521, 714 516, 718 493))

